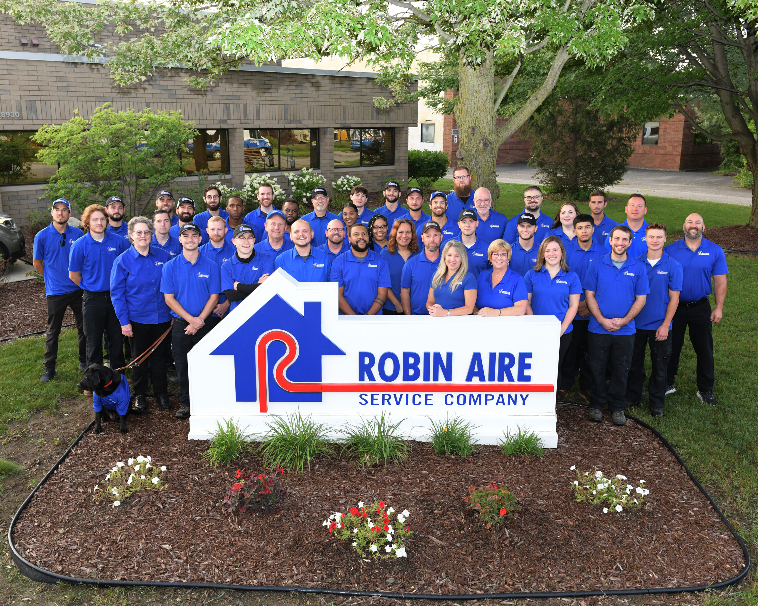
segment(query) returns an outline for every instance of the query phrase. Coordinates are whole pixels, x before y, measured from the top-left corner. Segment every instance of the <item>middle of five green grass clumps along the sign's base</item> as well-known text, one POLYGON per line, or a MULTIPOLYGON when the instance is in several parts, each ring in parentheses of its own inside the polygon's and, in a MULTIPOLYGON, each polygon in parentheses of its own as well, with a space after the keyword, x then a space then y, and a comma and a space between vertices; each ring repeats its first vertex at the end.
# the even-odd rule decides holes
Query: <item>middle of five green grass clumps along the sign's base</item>
POLYGON ((408 458, 410 446, 406 436, 397 433, 402 421, 390 423, 384 413, 380 417, 363 419, 358 427, 345 428, 345 450, 358 458, 360 467, 372 467, 393 461, 400 463, 408 458))

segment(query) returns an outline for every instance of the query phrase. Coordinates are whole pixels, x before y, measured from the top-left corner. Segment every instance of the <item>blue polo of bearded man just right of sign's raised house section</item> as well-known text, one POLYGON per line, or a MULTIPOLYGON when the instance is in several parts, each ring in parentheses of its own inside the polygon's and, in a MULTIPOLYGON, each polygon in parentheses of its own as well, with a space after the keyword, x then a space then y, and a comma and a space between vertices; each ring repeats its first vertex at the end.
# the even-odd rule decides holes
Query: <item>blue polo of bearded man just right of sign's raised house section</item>
MULTIPOLYGON (((352 250, 335 258, 329 280, 343 286, 343 296, 359 315, 365 315, 374 305, 377 288, 392 288, 387 261, 371 250, 362 259, 353 255, 352 250)), ((380 309, 377 315, 381 313, 380 309)))

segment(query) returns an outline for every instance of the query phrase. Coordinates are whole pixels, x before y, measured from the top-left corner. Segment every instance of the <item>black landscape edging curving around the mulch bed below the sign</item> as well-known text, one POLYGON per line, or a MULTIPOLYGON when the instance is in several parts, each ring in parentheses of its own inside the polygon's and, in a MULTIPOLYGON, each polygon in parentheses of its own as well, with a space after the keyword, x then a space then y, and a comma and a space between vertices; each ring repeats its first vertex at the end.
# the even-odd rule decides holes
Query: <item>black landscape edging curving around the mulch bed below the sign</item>
MULTIPOLYGON (((571 406, 581 406, 583 408, 588 408, 586 405, 576 404, 575 402, 565 402, 561 401, 559 404, 565 404, 565 405, 571 405, 571 406)), ((643 420, 637 419, 636 417, 631 417, 627 415, 628 419, 633 420, 635 423, 638 423, 639 425, 643 426, 645 429, 650 430, 650 432, 653 433, 653 436, 656 436, 666 448, 671 451, 671 453, 676 458, 678 464, 681 465, 681 467, 684 468, 684 471, 687 472, 687 475, 690 477, 692 482, 695 486, 697 486, 697 489, 700 490, 700 492, 703 493, 703 495, 708 499, 708 502, 711 504, 714 510, 716 510, 716 513, 719 514, 719 518, 721 518, 722 522, 725 524, 725 526, 728 528, 729 532, 731 533, 731 536, 735 537, 737 542, 739 543, 740 547, 742 548, 742 554, 745 558, 745 565, 741 572, 737 575, 732 577, 731 579, 727 579, 725 581, 721 581, 720 583, 712 583, 710 585, 703 585, 698 587, 656 587, 652 589, 609 589, 608 591, 602 591, 602 590, 596 590, 596 591, 586 591, 586 592, 519 592, 519 593, 477 593, 477 594, 424 594, 424 593, 390 593, 390 592, 361 592, 361 591, 351 591, 347 589, 321 589, 321 588, 315 588, 315 587, 283 587, 283 586, 257 586, 257 585, 229 585, 225 583, 182 583, 182 582, 164 582, 164 581, 119 581, 119 580, 107 580, 107 579, 80 579, 76 576, 65 576, 62 574, 54 573, 50 570, 45 570, 44 568, 40 568, 36 566, 35 564, 32 564, 30 561, 27 561, 27 559, 23 558, 23 556, 17 551, 13 544, 12 540, 12 534, 14 526, 16 526, 16 523, 18 521, 18 518, 23 513, 23 510, 27 508, 27 505, 32 500, 35 493, 39 490, 39 487, 42 486, 47 480, 52 476, 53 473, 55 473, 55 470, 60 467, 61 463, 63 463, 70 452, 74 450, 74 446, 79 444, 79 442, 83 439, 84 435, 92 429, 92 427, 95 425, 95 422, 92 421, 92 423, 89 423, 89 426, 86 427, 86 429, 80 434, 80 436, 74 441, 72 445, 67 449, 67 451, 64 452, 63 456, 58 459, 58 462, 53 465, 52 469, 49 470, 48 473, 45 474, 45 477, 42 478, 42 480, 39 482, 39 484, 36 486, 36 488, 30 493, 30 495, 23 501, 20 508, 18 508, 18 511, 13 517, 13 520, 11 520, 11 525, 8 527, 8 546, 11 548, 11 558, 13 558, 14 564, 20 570, 23 575, 28 576, 33 581, 39 581, 39 583, 68 583, 70 585, 91 585, 96 587, 178 587, 181 589, 226 589, 226 590, 236 590, 236 591, 257 591, 257 592, 296 592, 296 593, 312 593, 312 594, 327 594, 327 595, 345 595, 345 596, 355 596, 359 598, 401 598, 401 599, 407 599, 407 598, 414 598, 414 599, 425 599, 425 600, 484 600, 487 598, 493 598, 493 599, 518 599, 518 598, 587 598, 592 597, 596 595, 650 595, 650 594, 662 594, 662 593, 688 593, 688 592, 700 592, 700 591, 706 591, 709 589, 724 589, 725 587, 734 585, 735 583, 739 583, 744 576, 747 575, 747 571, 750 570, 750 551, 747 550, 747 545, 745 545, 744 541, 741 539, 741 537, 738 535, 738 533, 735 531, 734 527, 731 526, 731 523, 729 523, 729 520, 726 519, 725 515, 722 513, 722 511, 719 509, 719 506, 716 505, 716 503, 713 501, 713 498, 710 497, 710 495, 706 492, 706 489, 703 488, 703 486, 700 485, 700 482, 697 481, 695 476, 692 475, 691 471, 688 469, 688 467, 684 464, 684 461, 681 460, 681 457, 678 455, 678 453, 674 450, 672 445, 669 444, 668 440, 664 438, 660 433, 658 433, 657 430, 655 430, 653 427, 645 423, 643 420)))

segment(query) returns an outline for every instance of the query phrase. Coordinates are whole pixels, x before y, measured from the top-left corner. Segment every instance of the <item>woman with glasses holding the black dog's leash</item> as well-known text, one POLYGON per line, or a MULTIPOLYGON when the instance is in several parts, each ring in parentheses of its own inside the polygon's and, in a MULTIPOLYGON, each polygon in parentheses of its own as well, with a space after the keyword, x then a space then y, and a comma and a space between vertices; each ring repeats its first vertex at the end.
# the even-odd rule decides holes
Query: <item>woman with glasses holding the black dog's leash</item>
MULTIPOLYGON (((132 351, 140 355, 171 326, 171 313, 161 292, 163 265, 171 256, 151 245, 153 227, 146 217, 133 217, 128 226, 130 248, 118 256, 111 269, 111 301, 121 322, 121 333, 132 340, 132 351)), ((132 369, 134 410, 147 410, 148 373, 161 408, 171 408, 168 399, 166 362, 168 339, 161 341, 147 360, 132 369)))

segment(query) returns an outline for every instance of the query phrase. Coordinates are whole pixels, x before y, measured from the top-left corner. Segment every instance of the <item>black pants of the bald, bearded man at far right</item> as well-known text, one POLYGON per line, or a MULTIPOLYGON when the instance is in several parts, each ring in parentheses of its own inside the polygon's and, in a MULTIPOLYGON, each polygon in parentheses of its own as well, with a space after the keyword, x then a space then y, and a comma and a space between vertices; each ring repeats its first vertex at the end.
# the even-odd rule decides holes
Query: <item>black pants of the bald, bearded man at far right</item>
POLYGON ((713 367, 713 333, 710 321, 711 307, 707 298, 695 303, 680 303, 674 314, 674 333, 669 361, 668 384, 674 384, 679 370, 679 356, 684 345, 684 331, 690 327, 690 342, 697 355, 697 389, 713 392, 716 369, 713 367))

